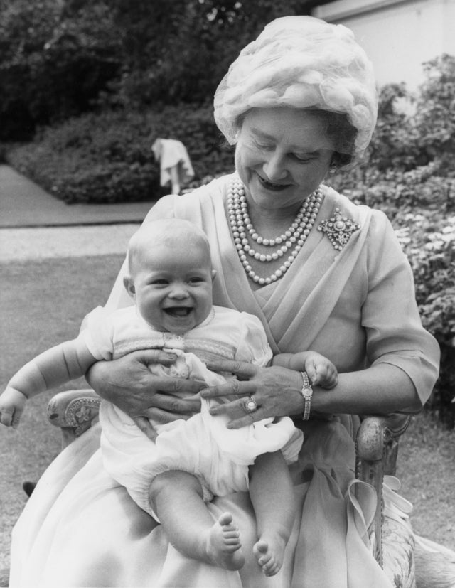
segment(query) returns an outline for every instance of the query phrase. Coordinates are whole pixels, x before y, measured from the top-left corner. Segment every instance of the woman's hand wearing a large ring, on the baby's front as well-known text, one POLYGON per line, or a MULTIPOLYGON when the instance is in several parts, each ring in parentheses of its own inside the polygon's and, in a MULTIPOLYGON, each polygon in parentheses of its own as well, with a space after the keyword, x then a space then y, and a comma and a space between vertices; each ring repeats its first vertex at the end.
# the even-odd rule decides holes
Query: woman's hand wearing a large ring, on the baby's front
POLYGON ((230 360, 210 362, 207 367, 215 372, 231 372, 237 376, 237 380, 211 386, 201 392, 201 396, 207 398, 232 398, 231 402, 210 408, 212 415, 230 417, 230 429, 240 429, 267 417, 297 415, 304 410, 299 372, 279 366, 257 368, 251 363, 230 360), (250 396, 257 404, 257 409, 252 412, 248 412, 245 406, 250 396))

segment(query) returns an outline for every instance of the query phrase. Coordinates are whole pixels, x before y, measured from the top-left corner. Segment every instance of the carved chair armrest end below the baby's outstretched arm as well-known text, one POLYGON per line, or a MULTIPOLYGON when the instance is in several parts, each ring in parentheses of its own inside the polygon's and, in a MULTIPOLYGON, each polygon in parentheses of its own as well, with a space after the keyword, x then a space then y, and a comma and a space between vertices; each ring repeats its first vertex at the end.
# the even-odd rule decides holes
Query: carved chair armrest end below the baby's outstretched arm
POLYGON ((59 392, 48 402, 48 419, 62 429, 63 448, 97 421, 101 398, 93 390, 59 392))

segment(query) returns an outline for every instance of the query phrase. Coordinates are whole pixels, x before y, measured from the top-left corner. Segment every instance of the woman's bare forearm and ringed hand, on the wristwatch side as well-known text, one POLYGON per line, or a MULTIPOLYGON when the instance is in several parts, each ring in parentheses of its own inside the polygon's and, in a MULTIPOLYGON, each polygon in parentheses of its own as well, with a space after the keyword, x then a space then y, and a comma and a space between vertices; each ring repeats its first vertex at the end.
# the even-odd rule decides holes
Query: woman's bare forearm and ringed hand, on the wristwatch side
MULTIPOLYGON (((213 386, 201 392, 204 397, 237 396, 227 404, 210 409, 213 415, 226 414, 232 421, 228 425, 237 429, 266 417, 301 415, 304 400, 300 390, 299 372, 272 366, 256 368, 240 362, 211 363, 215 371, 231 371, 240 380, 213 386), (253 396, 257 410, 245 414, 245 398, 253 396)), ((332 390, 315 386, 311 409, 322 414, 387 415, 390 412, 418 412, 422 407, 415 387, 406 373, 395 365, 380 363, 358 372, 338 375, 338 384, 332 390)))

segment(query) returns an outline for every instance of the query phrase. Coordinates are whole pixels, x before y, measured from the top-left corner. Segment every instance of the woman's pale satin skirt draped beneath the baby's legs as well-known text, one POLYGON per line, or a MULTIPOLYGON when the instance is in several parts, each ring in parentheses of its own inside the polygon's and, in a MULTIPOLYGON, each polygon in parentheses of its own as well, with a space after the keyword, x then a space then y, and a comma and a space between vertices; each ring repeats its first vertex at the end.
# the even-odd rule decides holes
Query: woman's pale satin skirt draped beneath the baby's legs
POLYGON ((95 425, 50 464, 16 523, 10 587, 390 588, 366 533, 375 491, 355 480, 348 429, 321 421, 304 434, 291 466, 298 511, 274 577, 264 577, 252 554, 257 533, 247 493, 208 503, 214 520, 230 511, 239 526, 242 570, 191 560, 107 474, 95 425))

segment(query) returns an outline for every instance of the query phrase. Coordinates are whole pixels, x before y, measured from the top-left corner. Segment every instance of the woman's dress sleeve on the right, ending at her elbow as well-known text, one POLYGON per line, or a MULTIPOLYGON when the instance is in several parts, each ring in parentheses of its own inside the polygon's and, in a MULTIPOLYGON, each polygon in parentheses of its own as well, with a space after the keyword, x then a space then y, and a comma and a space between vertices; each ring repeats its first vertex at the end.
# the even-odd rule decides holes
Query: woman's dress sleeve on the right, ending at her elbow
POLYGON ((362 309, 368 361, 402 369, 423 405, 439 373, 438 343, 422 326, 410 263, 389 220, 377 210, 368 241, 368 293, 362 309))

